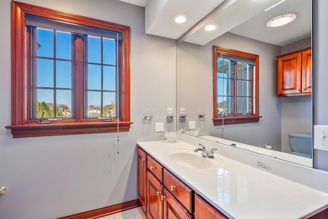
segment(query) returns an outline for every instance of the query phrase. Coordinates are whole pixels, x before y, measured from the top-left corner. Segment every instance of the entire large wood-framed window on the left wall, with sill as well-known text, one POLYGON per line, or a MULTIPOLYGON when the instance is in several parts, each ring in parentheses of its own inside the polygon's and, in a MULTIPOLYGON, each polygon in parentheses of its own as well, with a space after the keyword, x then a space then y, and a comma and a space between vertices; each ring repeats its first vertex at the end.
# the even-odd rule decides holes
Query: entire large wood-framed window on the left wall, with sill
POLYGON ((13 136, 129 131, 130 27, 12 8, 13 136))

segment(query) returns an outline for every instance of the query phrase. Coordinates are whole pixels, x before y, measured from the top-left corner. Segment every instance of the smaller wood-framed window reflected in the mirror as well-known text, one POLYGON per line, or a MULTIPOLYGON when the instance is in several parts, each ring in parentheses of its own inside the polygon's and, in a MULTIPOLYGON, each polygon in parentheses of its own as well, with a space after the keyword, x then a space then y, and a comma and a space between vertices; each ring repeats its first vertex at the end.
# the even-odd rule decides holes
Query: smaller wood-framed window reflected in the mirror
POLYGON ((258 55, 213 47, 214 125, 258 122, 258 66, 258 55))

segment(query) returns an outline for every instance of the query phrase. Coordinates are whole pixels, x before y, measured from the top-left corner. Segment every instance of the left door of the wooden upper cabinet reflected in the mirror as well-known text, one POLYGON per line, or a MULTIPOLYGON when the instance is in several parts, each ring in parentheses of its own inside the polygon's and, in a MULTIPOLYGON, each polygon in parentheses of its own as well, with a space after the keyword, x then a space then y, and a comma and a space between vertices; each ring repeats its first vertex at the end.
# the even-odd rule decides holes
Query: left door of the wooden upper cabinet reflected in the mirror
POLYGON ((301 53, 278 56, 277 95, 301 93, 301 53))

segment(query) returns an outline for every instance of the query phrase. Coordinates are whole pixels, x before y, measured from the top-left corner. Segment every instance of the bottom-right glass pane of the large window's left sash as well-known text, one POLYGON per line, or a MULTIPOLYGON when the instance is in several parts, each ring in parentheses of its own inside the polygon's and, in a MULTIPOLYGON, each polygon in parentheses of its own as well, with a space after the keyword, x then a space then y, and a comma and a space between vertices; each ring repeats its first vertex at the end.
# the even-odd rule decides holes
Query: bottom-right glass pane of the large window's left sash
POLYGON ((71 117, 71 91, 56 91, 56 117, 71 117))

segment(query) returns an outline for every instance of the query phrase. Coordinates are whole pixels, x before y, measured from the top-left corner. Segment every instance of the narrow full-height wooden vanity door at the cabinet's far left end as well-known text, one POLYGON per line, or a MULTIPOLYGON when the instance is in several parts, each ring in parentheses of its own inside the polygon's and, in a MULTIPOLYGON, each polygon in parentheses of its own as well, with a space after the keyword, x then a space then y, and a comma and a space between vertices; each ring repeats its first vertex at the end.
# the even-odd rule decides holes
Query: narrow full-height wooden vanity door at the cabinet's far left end
POLYGON ((147 154, 138 148, 138 200, 141 207, 147 212, 146 206, 146 186, 147 186, 147 154))

